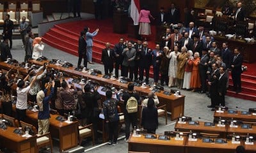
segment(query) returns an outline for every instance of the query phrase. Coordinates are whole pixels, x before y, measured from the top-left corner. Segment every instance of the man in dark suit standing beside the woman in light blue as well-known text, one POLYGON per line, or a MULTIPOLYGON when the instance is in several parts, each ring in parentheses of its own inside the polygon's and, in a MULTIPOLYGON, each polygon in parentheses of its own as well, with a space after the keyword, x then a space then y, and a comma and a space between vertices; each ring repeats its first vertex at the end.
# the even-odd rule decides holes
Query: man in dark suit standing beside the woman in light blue
POLYGON ((86 55, 86 47, 87 43, 84 39, 85 32, 81 31, 80 37, 78 40, 78 62, 77 67, 81 66, 82 59, 84 58, 84 68, 87 68, 87 55, 86 55))

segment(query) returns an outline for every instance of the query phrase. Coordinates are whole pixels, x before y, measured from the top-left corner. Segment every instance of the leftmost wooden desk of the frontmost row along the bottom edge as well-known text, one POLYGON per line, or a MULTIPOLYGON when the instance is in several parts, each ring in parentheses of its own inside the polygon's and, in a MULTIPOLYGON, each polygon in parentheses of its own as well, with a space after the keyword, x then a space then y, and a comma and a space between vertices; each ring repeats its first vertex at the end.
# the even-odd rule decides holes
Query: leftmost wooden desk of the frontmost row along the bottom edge
POLYGON ((141 137, 130 136, 128 151, 150 153, 183 153, 185 143, 186 137, 184 137, 184 140, 175 140, 175 138, 171 138, 171 140, 158 140, 158 135, 157 139, 147 139, 143 135, 141 135, 141 137))

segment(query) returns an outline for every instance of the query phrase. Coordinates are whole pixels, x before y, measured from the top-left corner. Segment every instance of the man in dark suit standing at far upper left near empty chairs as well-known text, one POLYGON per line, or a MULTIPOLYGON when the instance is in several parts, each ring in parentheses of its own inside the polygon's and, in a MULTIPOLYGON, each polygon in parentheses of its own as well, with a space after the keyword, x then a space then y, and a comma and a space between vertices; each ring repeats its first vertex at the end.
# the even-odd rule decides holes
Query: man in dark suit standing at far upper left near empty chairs
POLYGON ((12 49, 12 30, 13 30, 13 21, 10 20, 10 15, 5 15, 4 25, 3 25, 3 39, 10 41, 10 49, 12 49))

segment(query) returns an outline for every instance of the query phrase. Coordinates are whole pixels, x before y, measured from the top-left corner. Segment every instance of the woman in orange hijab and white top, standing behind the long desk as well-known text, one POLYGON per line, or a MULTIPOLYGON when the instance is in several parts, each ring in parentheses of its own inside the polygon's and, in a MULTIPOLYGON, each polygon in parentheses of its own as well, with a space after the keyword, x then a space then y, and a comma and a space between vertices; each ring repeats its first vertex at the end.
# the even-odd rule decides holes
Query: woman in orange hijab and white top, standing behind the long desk
POLYGON ((43 45, 43 42, 42 42, 42 38, 36 37, 35 40, 33 41, 32 58, 33 59, 38 59, 39 57, 41 57, 43 50, 44 50, 44 45, 43 45))

